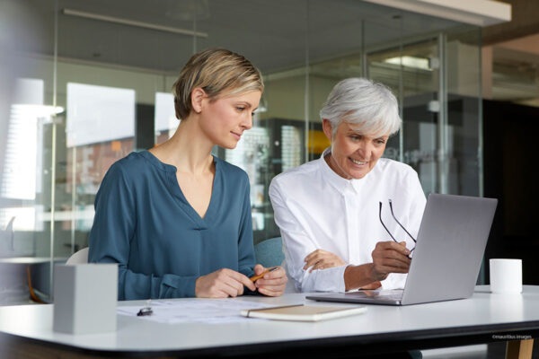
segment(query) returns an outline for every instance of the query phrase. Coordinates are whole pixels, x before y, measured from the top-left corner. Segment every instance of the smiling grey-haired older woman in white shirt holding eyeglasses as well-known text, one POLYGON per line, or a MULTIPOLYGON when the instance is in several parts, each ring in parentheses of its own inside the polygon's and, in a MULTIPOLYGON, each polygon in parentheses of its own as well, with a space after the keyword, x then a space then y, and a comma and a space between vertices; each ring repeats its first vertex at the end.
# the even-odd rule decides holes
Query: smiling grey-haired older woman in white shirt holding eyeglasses
POLYGON ((349 78, 320 116, 331 147, 270 186, 288 274, 301 292, 403 287, 414 242, 402 227, 417 235, 426 200, 410 166, 381 158, 401 127, 397 101, 349 78))

